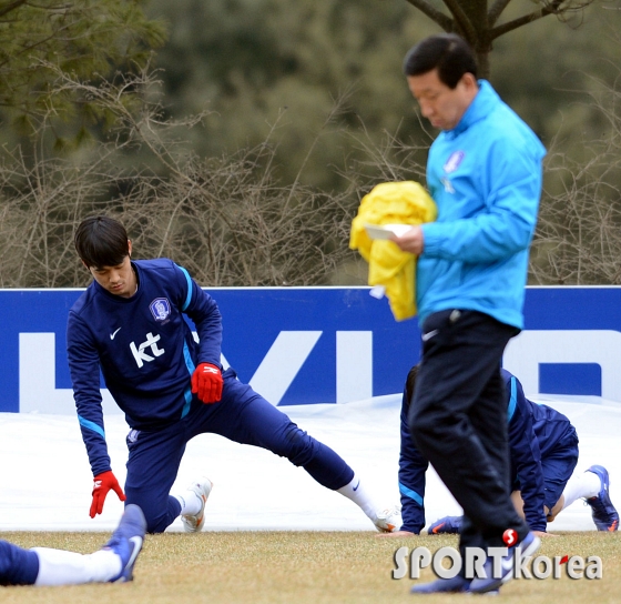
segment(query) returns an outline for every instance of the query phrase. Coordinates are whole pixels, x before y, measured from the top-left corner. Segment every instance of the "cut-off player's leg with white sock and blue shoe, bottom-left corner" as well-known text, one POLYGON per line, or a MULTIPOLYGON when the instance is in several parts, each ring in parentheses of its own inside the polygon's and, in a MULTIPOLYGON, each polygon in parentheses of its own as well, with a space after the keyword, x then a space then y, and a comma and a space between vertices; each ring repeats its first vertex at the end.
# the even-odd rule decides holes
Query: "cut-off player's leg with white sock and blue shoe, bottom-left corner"
POLYGON ((128 505, 110 541, 92 554, 51 547, 24 550, 0 540, 0 585, 48 587, 132 581, 145 528, 140 507, 128 505))

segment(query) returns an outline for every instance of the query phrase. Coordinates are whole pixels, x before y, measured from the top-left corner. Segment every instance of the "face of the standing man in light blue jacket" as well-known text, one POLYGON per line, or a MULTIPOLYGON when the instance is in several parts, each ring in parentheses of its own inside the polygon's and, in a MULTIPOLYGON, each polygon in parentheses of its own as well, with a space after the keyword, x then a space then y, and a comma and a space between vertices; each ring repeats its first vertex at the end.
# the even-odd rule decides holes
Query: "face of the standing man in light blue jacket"
POLYGON ((437 69, 408 76, 407 81, 423 115, 440 130, 452 130, 459 123, 478 91, 471 73, 464 74, 454 89, 440 81, 437 69))

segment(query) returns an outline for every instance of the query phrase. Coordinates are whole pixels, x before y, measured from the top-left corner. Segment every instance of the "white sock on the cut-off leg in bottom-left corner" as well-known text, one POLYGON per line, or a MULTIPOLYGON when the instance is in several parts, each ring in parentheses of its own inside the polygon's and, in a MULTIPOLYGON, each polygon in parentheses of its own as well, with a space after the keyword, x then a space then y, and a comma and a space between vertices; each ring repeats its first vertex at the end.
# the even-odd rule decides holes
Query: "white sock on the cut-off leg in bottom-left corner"
POLYGON ((33 547, 32 551, 39 556, 34 585, 105 583, 121 572, 121 557, 112 550, 85 555, 49 547, 33 547))

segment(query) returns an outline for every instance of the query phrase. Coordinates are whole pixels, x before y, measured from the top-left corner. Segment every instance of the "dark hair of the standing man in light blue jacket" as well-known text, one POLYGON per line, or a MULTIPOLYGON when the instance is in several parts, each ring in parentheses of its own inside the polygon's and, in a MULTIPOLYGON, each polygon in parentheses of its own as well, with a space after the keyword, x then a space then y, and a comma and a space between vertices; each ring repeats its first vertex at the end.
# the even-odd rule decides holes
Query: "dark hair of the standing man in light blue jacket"
POLYGON ((477 78, 472 49, 456 33, 438 33, 410 48, 404 59, 406 76, 423 76, 438 70, 440 82, 454 89, 465 73, 477 78))

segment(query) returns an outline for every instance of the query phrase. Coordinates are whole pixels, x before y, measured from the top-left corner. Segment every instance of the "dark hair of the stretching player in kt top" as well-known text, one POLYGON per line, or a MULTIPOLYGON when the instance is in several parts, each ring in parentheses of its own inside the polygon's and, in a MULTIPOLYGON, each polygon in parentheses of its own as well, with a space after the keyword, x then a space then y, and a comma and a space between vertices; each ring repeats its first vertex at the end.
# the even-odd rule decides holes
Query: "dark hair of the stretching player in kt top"
POLYGON ((83 220, 75 230, 73 243, 89 268, 118 266, 130 253, 125 228, 108 217, 83 220))

